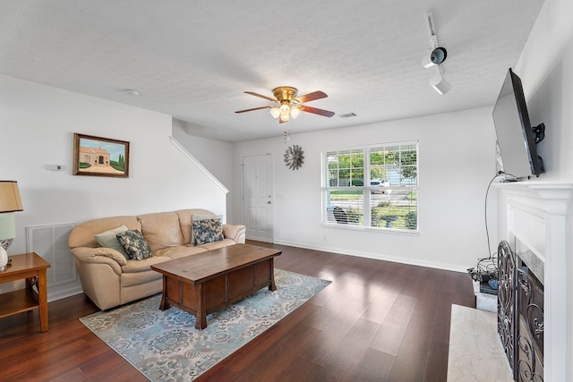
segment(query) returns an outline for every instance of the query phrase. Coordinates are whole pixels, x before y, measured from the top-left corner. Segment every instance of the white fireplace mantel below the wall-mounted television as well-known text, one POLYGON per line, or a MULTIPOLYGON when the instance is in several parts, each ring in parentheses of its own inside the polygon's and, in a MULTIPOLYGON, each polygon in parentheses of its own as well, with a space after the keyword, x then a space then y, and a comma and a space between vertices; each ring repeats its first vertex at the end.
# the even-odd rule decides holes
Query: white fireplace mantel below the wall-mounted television
POLYGON ((498 242, 526 245, 544 262, 544 380, 573 380, 573 183, 497 183, 498 242))

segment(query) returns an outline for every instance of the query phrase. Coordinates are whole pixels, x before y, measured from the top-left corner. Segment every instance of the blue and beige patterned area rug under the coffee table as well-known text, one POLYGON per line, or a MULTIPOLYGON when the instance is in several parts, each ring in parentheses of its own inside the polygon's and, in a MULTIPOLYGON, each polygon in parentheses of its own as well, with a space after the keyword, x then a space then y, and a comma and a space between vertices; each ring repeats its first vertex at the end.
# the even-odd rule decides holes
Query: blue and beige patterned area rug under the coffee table
POLYGON ((265 287, 208 315, 203 330, 184 310, 159 310, 161 294, 80 321, 150 380, 191 381, 331 283, 281 269, 275 282, 275 292, 265 287))

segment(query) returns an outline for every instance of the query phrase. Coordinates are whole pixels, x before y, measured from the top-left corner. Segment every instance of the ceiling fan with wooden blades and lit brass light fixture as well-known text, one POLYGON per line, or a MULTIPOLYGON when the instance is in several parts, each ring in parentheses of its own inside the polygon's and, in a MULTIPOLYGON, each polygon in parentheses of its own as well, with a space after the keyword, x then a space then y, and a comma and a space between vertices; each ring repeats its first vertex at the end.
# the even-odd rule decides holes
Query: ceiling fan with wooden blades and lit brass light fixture
POLYGON ((274 102, 275 105, 254 107, 252 109, 239 110, 235 113, 245 113, 252 112, 253 110, 270 108, 270 115, 272 115, 273 118, 278 118, 279 123, 286 123, 290 120, 291 117, 296 119, 296 117, 298 117, 301 112, 328 117, 334 115, 334 112, 329 112, 328 110, 303 105, 305 102, 313 101, 315 99, 327 98, 328 96, 326 93, 318 90, 305 94, 304 96, 296 97, 297 92, 298 90, 296 88, 290 86, 280 86, 272 90, 272 94, 275 96, 275 98, 270 98, 258 93, 253 93, 252 91, 245 91, 245 93, 252 96, 268 99, 269 101, 274 102))

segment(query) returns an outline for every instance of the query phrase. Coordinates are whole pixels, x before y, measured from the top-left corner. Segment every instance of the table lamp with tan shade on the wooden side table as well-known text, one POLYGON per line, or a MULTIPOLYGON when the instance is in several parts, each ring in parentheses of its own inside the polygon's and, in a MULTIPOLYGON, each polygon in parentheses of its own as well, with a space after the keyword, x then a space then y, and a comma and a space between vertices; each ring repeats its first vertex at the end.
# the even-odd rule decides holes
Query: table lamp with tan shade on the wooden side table
POLYGON ((0 271, 8 264, 6 250, 16 236, 15 211, 23 211, 20 191, 15 181, 0 181, 0 271))

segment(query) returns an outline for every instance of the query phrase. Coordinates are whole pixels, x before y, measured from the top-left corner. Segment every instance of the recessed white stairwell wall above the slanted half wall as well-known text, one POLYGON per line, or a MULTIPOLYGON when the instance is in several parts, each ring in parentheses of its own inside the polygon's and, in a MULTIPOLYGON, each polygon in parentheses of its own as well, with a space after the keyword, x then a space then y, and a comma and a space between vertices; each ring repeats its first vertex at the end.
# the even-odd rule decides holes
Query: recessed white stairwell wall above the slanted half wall
POLYGON ((190 135, 187 132, 187 123, 173 119, 173 137, 189 153, 197 159, 229 192, 227 193, 227 223, 239 224, 233 216, 231 207, 233 191, 233 144, 222 140, 210 140, 208 138, 190 135))

